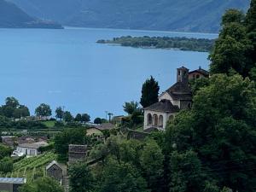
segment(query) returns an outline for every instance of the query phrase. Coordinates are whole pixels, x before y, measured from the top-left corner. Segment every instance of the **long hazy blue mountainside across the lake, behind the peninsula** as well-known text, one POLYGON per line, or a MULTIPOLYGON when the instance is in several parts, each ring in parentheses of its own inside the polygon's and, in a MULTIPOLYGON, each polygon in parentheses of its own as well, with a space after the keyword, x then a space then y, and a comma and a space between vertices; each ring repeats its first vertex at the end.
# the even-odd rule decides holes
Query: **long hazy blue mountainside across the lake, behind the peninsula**
POLYGON ((226 9, 250 0, 9 0, 38 18, 67 26, 218 32, 226 9))

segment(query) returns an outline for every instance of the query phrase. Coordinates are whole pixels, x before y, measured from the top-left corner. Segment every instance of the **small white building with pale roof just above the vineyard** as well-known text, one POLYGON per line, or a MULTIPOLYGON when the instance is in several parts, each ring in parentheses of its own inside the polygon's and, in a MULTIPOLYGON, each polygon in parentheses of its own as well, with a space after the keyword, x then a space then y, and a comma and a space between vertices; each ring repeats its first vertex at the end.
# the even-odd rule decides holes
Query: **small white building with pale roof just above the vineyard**
POLYGON ((38 149, 46 146, 48 146, 48 143, 46 142, 23 143, 17 146, 16 151, 19 151, 20 153, 23 153, 27 156, 37 156, 40 154, 38 149))

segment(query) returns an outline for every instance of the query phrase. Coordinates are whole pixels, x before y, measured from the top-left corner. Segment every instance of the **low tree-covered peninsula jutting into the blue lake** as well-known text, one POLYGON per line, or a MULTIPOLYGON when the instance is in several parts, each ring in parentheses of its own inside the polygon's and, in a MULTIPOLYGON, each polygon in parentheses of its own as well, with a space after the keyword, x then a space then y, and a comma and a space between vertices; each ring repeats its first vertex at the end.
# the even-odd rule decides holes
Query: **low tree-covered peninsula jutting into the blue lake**
POLYGON ((118 44, 135 48, 180 49, 209 52, 214 44, 213 39, 206 38, 170 38, 170 37, 131 37, 125 36, 112 40, 98 40, 99 44, 118 44))

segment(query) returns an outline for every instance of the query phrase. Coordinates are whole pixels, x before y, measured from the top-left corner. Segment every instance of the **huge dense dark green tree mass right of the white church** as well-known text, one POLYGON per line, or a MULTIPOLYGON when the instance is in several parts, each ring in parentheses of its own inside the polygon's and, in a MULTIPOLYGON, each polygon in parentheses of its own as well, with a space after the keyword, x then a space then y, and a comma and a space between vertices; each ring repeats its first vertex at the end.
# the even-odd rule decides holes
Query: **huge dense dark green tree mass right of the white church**
MULTIPOLYGON (((165 153, 195 151, 204 162, 207 177, 218 178, 221 188, 253 191, 250 183, 255 177, 251 167, 256 166, 255 84, 240 75, 213 75, 209 85, 196 92, 193 102, 190 111, 179 113, 170 123, 165 153)), ((175 177, 176 186, 183 184, 183 173, 171 177, 175 177)), ((184 179, 189 181, 187 176, 184 179)))

